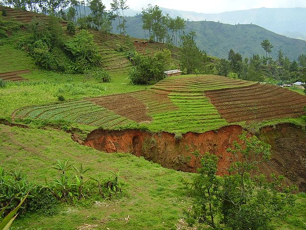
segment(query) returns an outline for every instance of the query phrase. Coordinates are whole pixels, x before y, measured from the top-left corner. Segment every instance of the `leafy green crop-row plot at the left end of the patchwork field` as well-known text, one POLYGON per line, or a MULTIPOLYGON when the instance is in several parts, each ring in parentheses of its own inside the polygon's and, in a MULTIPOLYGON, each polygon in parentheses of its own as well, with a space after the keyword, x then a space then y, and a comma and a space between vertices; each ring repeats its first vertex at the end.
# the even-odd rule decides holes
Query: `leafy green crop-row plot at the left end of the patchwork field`
POLYGON ((86 100, 68 101, 58 104, 30 106, 15 112, 15 118, 67 120, 79 124, 115 129, 135 122, 115 114, 104 107, 86 100))

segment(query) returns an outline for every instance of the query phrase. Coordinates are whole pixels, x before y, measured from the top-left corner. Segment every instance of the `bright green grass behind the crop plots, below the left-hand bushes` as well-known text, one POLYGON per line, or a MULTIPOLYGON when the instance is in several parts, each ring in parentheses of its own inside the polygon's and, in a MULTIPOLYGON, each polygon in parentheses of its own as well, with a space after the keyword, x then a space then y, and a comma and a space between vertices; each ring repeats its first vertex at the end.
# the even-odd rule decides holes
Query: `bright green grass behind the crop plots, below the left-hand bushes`
POLYGON ((8 117, 13 111, 31 105, 54 103, 58 95, 66 100, 84 97, 98 97, 126 93, 148 88, 146 85, 131 85, 127 78, 128 70, 110 72, 111 82, 100 82, 83 75, 60 74, 38 70, 31 58, 13 44, 0 46, 5 56, 5 64, 0 65, 0 73, 30 69, 31 73, 21 76, 28 82, 10 82, 0 88, 0 117, 8 117))

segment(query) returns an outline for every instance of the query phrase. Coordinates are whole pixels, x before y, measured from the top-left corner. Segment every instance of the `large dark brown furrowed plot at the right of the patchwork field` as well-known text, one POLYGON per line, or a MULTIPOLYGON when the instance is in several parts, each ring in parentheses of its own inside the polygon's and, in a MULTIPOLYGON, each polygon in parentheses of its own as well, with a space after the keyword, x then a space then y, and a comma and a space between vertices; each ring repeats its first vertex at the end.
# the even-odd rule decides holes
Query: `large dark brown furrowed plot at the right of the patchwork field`
POLYGON ((206 91, 205 95, 229 122, 260 121, 305 115, 306 97, 274 85, 255 84, 206 91))

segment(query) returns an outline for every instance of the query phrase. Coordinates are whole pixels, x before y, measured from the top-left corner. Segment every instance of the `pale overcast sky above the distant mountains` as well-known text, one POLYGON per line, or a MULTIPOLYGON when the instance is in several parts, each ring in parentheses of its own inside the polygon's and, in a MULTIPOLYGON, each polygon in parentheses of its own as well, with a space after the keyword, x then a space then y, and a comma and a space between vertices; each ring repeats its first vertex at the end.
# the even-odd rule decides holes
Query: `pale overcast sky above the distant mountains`
MULTIPOLYGON (((102 0, 109 8, 112 0, 102 0)), ((252 8, 306 7, 306 0, 127 0, 131 9, 141 10, 151 3, 160 7, 195 11, 198 13, 221 13, 252 8)))

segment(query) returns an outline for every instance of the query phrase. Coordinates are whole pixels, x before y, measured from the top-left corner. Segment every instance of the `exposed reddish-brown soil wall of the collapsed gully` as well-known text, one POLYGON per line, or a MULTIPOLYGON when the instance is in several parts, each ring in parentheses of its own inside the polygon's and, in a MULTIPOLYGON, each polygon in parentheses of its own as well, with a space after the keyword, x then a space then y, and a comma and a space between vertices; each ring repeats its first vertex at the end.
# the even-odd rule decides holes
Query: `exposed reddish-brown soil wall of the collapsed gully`
MULTIPOLYGON (((151 133, 141 130, 94 130, 82 143, 107 153, 133 153, 144 156, 163 167, 196 172, 200 166, 197 154, 214 153, 219 157, 218 173, 227 172, 232 155, 226 149, 238 140, 243 128, 230 125, 205 133, 175 136, 167 132, 151 133)), ((252 133, 250 133, 253 135, 252 133)), ((271 160, 260 165, 261 172, 284 175, 288 184, 306 191, 306 131, 293 124, 261 128, 257 137, 272 146, 271 160)))

